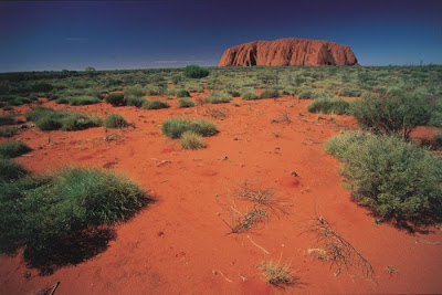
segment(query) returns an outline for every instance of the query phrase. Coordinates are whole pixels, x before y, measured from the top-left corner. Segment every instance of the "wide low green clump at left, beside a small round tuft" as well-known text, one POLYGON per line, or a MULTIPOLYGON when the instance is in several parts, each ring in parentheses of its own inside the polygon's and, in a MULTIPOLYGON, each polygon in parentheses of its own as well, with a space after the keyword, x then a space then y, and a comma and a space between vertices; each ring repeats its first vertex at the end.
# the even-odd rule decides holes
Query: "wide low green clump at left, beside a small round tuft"
POLYGON ((91 118, 84 114, 67 110, 54 110, 50 107, 39 106, 25 115, 28 120, 32 120, 41 130, 63 129, 67 131, 83 130, 99 126, 99 120, 91 118))

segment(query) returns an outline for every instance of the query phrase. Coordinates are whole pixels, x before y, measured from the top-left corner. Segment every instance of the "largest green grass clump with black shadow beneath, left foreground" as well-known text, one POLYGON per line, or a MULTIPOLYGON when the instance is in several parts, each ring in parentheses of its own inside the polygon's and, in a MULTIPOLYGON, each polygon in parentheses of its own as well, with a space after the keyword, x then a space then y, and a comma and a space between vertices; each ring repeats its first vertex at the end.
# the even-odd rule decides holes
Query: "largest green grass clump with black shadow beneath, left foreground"
POLYGON ((24 246, 28 264, 43 273, 103 251, 110 239, 103 226, 130 219, 151 200, 127 178, 81 168, 0 181, 0 252, 24 246))

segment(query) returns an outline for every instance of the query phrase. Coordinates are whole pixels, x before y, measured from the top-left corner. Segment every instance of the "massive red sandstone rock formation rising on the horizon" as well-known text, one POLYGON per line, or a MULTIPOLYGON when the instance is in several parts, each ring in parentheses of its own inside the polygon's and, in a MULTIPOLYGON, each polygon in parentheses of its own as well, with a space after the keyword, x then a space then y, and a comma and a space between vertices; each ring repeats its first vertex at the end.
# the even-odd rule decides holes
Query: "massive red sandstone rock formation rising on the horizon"
POLYGON ((287 38, 230 48, 222 54, 218 65, 356 65, 357 62, 349 46, 329 41, 287 38))

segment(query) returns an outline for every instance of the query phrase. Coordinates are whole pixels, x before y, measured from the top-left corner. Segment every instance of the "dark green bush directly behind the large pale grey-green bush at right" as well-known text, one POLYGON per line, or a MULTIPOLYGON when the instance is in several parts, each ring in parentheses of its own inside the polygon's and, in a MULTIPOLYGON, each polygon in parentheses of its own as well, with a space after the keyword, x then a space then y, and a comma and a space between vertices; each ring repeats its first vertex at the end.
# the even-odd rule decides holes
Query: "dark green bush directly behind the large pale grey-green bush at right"
POLYGON ((397 134, 408 138, 411 130, 425 125, 431 117, 425 99, 420 96, 367 96, 351 104, 350 113, 361 128, 397 134))

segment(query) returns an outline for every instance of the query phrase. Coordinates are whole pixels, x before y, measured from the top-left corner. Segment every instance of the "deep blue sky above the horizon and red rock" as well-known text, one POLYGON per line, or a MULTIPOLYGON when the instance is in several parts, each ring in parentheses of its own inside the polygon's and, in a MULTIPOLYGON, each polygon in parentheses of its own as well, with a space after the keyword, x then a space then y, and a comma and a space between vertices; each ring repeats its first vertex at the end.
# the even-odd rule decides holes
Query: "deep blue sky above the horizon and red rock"
POLYGON ((280 38, 349 45, 361 65, 442 64, 442 0, 0 2, 0 72, 217 65, 280 38))

